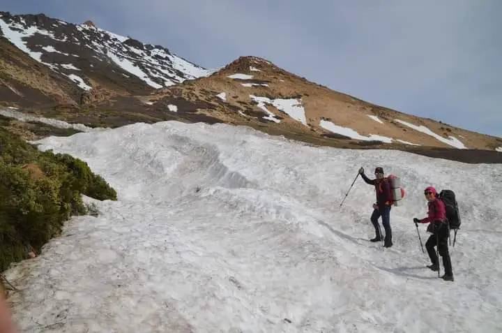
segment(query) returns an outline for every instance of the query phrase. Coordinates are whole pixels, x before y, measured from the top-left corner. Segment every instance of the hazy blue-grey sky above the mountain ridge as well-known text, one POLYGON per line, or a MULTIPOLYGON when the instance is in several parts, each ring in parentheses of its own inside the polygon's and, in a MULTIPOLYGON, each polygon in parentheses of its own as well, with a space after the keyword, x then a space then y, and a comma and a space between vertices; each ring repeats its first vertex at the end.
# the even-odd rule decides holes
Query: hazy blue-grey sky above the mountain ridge
POLYGON ((207 68, 243 55, 401 112, 502 137, 499 0, 3 0, 159 44, 207 68))

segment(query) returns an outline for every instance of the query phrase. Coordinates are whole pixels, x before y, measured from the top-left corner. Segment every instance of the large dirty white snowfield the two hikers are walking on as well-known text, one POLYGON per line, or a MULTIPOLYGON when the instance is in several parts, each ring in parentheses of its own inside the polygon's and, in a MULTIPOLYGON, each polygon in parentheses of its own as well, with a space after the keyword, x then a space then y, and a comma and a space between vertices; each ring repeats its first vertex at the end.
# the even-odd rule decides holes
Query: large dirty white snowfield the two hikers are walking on
POLYGON ((502 165, 176 121, 39 143, 82 158, 119 200, 87 198, 98 217, 6 272, 22 332, 502 331, 502 165), (340 209, 361 165, 406 187, 390 249, 367 241, 371 186, 358 179, 340 209), (429 185, 460 202, 454 283, 425 267, 412 222, 429 185))

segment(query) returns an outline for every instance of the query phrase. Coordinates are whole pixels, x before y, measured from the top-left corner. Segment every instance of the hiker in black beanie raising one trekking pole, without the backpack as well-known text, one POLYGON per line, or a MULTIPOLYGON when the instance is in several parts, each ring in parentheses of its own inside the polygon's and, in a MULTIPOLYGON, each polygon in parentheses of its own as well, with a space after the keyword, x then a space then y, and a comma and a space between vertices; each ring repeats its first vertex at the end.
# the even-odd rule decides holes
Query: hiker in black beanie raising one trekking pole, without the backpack
POLYGON ((392 230, 390 229, 390 207, 392 207, 393 200, 392 194, 390 193, 390 184, 388 179, 386 179, 383 175, 383 168, 375 168, 376 179, 369 179, 364 173, 364 168, 360 168, 359 173, 361 177, 363 177, 366 184, 374 186, 375 193, 377 194, 377 203, 373 204, 373 214, 370 219, 375 228, 375 237, 370 239, 370 241, 379 242, 382 239, 380 225, 378 222, 378 219, 381 216, 383 229, 386 232, 383 246, 393 246, 392 230))

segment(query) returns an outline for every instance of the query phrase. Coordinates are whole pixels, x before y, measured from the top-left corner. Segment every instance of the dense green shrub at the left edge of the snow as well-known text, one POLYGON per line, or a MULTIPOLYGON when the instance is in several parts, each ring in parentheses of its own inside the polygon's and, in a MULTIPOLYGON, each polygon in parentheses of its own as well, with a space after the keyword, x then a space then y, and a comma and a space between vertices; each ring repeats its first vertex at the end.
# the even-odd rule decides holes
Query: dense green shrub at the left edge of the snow
POLYGON ((58 235, 63 222, 86 214, 82 194, 116 200, 84 161, 41 152, 0 128, 0 272, 58 235))

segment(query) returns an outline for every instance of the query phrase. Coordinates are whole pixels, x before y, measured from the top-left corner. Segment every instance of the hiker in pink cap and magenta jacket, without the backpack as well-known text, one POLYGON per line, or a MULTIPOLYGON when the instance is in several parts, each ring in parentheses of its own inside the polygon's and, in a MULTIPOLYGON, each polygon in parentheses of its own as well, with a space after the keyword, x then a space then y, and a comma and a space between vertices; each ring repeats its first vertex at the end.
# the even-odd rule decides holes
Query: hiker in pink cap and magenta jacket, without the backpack
POLYGON ((424 191, 425 198, 427 198, 427 206, 429 212, 425 219, 413 219, 415 223, 430 223, 427 227, 428 232, 432 232, 429 239, 425 243, 427 253, 432 265, 428 265, 434 272, 439 270, 439 258, 434 251, 434 246, 438 246, 438 252, 443 257, 443 266, 445 274, 441 276, 445 281, 453 281, 453 272, 451 267, 450 253, 448 252, 448 220, 446 219, 446 207, 444 202, 438 198, 436 188, 429 186, 424 191))

